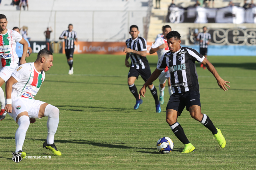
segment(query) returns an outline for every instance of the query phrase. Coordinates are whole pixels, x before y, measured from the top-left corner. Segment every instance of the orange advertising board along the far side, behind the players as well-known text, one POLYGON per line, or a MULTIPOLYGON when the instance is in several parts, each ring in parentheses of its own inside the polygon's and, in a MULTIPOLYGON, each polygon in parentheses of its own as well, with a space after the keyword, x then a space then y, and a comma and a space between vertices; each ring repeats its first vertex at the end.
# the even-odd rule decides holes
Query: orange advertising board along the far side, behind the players
MULTIPOLYGON (((152 42, 147 42, 147 53, 151 48, 152 42)), ((113 54, 125 55, 125 42, 75 42, 74 54, 113 54)), ((63 43, 63 54, 65 54, 65 44, 63 43)))

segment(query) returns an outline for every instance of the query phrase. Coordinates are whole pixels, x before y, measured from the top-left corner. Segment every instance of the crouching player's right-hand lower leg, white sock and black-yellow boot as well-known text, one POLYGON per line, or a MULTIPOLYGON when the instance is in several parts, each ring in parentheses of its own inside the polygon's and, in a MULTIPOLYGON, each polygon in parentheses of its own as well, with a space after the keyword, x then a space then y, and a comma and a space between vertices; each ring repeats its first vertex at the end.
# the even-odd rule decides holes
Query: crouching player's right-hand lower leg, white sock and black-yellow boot
POLYGON ((54 135, 57 131, 58 124, 59 124, 59 114, 60 114, 60 111, 57 107, 50 104, 48 104, 45 107, 45 116, 48 116, 48 120, 47 120, 48 135, 45 143, 43 144, 43 147, 51 150, 55 155, 60 156, 61 152, 57 150, 54 144, 54 135))

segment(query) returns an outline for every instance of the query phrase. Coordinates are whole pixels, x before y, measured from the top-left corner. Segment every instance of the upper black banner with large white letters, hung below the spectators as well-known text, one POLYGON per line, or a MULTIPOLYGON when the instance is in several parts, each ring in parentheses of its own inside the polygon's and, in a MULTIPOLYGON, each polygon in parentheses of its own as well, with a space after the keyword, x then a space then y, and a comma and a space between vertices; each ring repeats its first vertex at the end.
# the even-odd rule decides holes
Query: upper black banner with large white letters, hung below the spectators
POLYGON ((201 6, 169 7, 166 22, 170 23, 256 23, 256 7, 244 9, 238 6, 206 8, 201 6))

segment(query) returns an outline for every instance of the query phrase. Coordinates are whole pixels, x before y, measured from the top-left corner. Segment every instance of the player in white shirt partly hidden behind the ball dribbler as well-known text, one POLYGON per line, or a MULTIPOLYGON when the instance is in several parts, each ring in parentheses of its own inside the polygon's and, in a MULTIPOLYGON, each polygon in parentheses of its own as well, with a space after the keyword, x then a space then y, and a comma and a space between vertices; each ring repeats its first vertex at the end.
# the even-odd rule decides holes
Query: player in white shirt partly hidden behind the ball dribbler
MULTIPOLYGON (((153 54, 155 52, 157 53, 158 62, 159 62, 162 55, 169 52, 169 47, 167 45, 166 35, 170 31, 171 31, 171 27, 169 25, 163 26, 163 35, 164 36, 156 38, 155 41, 153 42, 152 46, 151 46, 151 49, 149 50, 149 54, 153 54)), ((170 74, 169 74, 169 71, 168 71, 168 67, 166 67, 166 69, 161 72, 161 75, 159 76, 158 79, 159 79, 159 91, 160 91, 159 102, 162 105, 164 103, 164 88, 165 88, 166 80, 168 81, 169 95, 172 94, 170 74)))

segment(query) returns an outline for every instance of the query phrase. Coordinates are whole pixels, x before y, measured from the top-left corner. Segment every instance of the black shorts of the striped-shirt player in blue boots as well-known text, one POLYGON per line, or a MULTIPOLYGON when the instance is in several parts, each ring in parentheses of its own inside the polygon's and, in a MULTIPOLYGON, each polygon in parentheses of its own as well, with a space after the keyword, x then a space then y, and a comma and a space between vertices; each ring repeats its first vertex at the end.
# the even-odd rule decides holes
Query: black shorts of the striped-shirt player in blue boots
MULTIPOLYGON (((147 79, 151 76, 151 70, 149 67, 145 69, 136 69, 134 67, 130 67, 128 78, 129 77, 136 77, 138 79, 139 75, 142 77, 142 79, 146 82, 147 79)), ((152 85, 151 83, 150 85, 152 85)))

